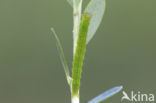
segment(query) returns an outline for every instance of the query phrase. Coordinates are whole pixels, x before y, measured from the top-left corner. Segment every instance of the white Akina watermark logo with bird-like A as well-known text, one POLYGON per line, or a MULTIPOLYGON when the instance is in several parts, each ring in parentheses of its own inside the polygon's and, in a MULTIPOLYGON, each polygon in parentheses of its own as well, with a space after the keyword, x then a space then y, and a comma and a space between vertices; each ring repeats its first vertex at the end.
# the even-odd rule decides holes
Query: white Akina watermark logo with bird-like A
POLYGON ((129 94, 127 94, 125 91, 122 91, 123 97, 121 98, 121 101, 127 100, 131 102, 154 102, 154 94, 146 94, 141 93, 140 91, 134 92, 131 91, 129 94))

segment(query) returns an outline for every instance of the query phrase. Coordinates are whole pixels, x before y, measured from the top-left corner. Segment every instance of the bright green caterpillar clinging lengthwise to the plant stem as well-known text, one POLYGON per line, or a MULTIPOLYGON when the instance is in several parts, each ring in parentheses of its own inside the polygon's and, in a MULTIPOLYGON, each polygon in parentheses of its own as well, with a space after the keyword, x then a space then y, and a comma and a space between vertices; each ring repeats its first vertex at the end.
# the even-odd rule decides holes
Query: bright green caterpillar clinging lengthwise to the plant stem
POLYGON ((73 68, 72 68, 72 96, 79 94, 80 88, 80 79, 81 79, 81 72, 82 72, 82 65, 84 60, 84 55, 86 51, 86 43, 87 43, 87 34, 88 28, 90 23, 90 15, 84 14, 82 16, 80 22, 80 29, 79 29, 79 36, 77 40, 76 51, 73 60, 73 68))

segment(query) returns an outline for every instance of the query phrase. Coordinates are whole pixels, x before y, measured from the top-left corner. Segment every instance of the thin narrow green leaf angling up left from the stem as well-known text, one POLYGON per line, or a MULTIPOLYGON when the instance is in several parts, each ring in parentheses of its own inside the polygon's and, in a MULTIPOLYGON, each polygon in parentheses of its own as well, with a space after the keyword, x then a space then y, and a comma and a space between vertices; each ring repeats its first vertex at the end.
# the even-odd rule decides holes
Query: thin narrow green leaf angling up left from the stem
POLYGON ((69 67, 67 65, 67 62, 66 62, 66 58, 64 56, 64 52, 63 52, 63 48, 62 48, 62 45, 60 43, 60 40, 55 32, 55 30, 53 28, 51 28, 51 31, 52 33, 54 34, 54 37, 56 39, 56 46, 57 46, 57 49, 58 49, 58 52, 59 52, 59 55, 60 55, 60 59, 61 59, 61 62, 62 62, 62 65, 63 65, 63 68, 64 68, 64 71, 65 71, 65 74, 66 74, 66 78, 67 78, 67 82, 69 85, 71 85, 72 83, 72 78, 70 77, 70 73, 69 73, 69 67))

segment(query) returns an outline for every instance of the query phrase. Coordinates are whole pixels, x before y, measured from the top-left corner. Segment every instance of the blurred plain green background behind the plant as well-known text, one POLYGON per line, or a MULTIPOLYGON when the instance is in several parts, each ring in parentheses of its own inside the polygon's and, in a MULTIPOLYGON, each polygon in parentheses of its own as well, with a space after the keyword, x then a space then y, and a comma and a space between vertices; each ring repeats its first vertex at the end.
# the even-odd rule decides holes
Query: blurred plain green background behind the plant
MULTIPOLYGON (((0 0, 0 103, 70 103, 50 28, 71 67, 72 25, 65 0, 0 0)), ((117 85, 156 94, 156 0, 107 0, 86 53, 81 103, 117 85)))

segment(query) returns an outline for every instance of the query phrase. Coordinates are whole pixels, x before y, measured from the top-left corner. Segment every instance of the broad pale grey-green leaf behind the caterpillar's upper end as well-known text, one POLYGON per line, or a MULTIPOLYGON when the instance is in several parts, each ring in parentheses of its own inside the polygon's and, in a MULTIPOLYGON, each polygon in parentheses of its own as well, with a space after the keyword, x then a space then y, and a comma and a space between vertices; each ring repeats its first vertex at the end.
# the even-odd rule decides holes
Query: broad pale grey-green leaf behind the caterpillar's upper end
POLYGON ((96 30, 98 29, 106 8, 105 0, 91 0, 85 8, 84 13, 91 15, 91 23, 87 36, 87 43, 93 38, 96 30))

